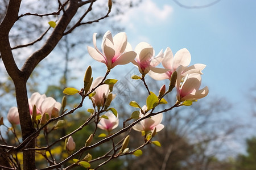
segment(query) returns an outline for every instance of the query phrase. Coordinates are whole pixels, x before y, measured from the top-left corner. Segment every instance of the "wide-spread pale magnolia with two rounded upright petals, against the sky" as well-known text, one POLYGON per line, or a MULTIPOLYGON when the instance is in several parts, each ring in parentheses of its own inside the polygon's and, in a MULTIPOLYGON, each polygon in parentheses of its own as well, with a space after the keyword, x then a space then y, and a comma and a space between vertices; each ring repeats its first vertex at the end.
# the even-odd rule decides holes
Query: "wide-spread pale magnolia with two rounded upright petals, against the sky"
POLYGON ((182 71, 182 75, 185 76, 186 74, 191 73, 201 73, 201 70, 205 68, 205 65, 203 64, 195 64, 192 66, 189 66, 189 63, 191 62, 191 54, 189 51, 185 48, 180 49, 177 51, 177 53, 172 54, 172 50, 167 47, 163 54, 163 60, 162 65, 165 69, 169 69, 166 71, 166 73, 154 73, 150 71, 148 74, 155 80, 163 80, 163 79, 170 79, 172 76, 172 73, 176 71, 177 67, 180 65, 184 67, 184 70, 182 71))

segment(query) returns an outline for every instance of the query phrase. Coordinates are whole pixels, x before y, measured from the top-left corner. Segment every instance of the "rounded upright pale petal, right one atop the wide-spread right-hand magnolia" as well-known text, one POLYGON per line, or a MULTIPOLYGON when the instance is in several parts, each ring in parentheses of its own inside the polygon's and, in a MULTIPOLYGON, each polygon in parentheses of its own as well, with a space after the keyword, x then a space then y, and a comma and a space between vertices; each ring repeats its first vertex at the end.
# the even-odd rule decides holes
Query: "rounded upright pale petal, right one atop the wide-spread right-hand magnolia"
POLYGON ((177 67, 179 67, 179 65, 187 67, 190 62, 191 62, 191 54, 187 49, 183 48, 177 51, 177 53, 175 54, 174 61, 172 63, 172 68, 176 70, 177 67))

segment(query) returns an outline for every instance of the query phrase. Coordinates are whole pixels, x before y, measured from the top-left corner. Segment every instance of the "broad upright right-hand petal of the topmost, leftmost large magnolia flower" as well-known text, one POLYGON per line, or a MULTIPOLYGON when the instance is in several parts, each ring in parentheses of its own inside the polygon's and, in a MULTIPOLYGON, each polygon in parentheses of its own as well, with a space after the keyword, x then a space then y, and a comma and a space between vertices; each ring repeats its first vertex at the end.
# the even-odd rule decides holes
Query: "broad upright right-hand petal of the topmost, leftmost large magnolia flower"
POLYGON ((122 54, 127 46, 127 35, 125 32, 120 32, 113 37, 115 53, 122 54))

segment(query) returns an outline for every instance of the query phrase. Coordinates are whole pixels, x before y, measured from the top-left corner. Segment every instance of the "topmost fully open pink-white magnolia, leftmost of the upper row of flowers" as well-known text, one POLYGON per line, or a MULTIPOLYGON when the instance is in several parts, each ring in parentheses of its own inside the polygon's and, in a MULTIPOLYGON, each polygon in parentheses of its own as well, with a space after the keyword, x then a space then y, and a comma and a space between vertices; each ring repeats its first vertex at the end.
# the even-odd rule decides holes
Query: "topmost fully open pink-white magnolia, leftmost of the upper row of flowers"
POLYGON ((93 59, 105 63, 108 69, 116 65, 125 65, 136 57, 133 51, 125 52, 127 46, 127 36, 125 32, 120 32, 112 38, 112 33, 107 31, 102 39, 101 50, 96 45, 96 34, 93 34, 93 45, 87 46, 88 53, 93 59))

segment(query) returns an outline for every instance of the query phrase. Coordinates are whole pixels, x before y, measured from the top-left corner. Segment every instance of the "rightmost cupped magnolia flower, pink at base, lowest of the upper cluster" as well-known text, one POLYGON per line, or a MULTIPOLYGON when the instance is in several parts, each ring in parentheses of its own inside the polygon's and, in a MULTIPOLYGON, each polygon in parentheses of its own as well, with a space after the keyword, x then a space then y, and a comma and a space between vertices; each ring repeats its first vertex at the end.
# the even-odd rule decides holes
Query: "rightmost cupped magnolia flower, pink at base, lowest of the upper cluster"
POLYGON ((177 69, 177 81, 176 81, 176 89, 177 89, 177 100, 179 102, 185 100, 197 100, 201 99, 208 95, 208 87, 204 87, 199 90, 201 86, 201 75, 198 73, 187 74, 184 78, 182 78, 180 72, 182 69, 177 69), (184 79, 184 80, 183 80, 184 79), (183 82, 181 83, 181 80, 183 82))

